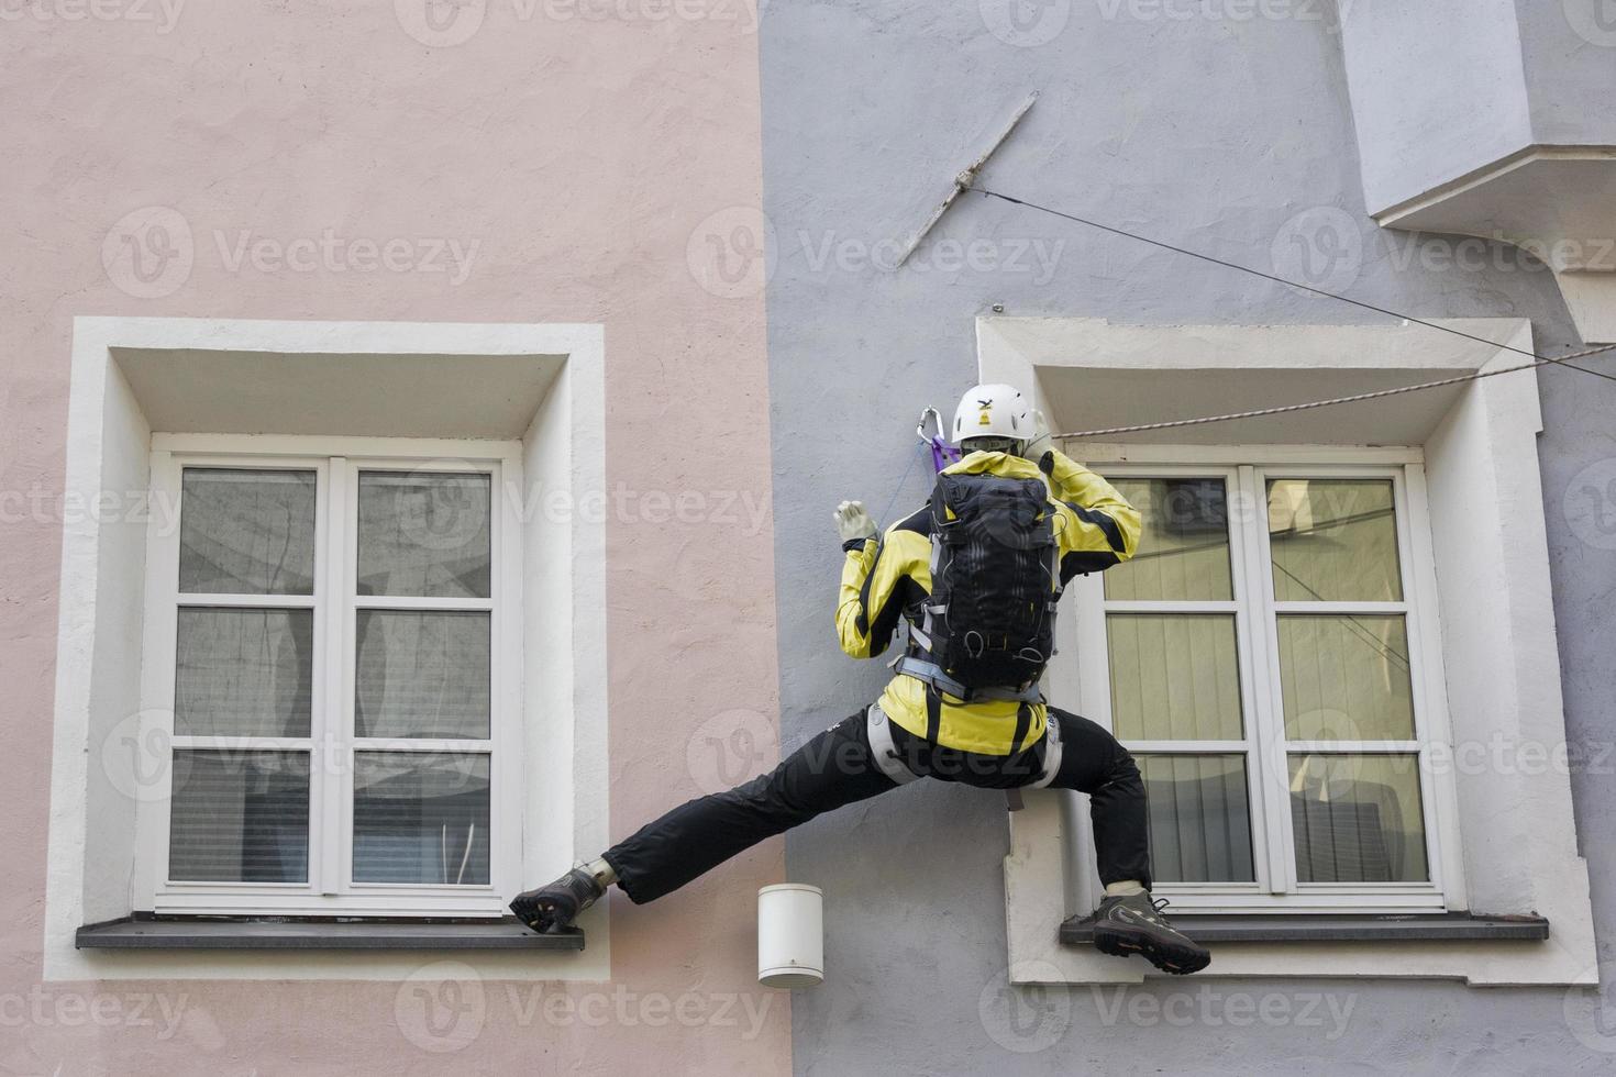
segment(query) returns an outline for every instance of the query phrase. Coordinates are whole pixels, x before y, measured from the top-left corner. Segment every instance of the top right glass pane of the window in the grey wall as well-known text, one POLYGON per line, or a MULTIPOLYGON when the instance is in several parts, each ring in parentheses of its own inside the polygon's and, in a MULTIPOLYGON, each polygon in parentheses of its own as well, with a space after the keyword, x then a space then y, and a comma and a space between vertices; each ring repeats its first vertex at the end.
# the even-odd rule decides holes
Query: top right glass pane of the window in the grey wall
POLYGON ((1273 480, 1269 541, 1280 602, 1403 601, 1391 480, 1273 480))

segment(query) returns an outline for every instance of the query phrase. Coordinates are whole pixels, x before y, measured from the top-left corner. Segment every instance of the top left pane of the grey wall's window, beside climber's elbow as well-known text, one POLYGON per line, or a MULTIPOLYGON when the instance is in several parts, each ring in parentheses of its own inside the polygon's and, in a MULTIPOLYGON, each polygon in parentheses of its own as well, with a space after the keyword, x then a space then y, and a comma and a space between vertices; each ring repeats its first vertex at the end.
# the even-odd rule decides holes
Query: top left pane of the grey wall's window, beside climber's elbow
POLYGON ((1144 517, 1139 552, 1105 572, 1115 601, 1227 602, 1228 497, 1220 478, 1123 478, 1112 483, 1144 517))

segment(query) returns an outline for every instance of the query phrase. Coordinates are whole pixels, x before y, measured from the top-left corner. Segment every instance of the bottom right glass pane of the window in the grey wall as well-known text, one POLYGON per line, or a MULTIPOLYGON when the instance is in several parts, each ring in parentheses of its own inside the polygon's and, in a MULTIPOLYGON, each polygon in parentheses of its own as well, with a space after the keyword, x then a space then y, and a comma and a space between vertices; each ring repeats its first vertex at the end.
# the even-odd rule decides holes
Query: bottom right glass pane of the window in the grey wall
POLYGON ((1417 756, 1291 756, 1296 877, 1304 883, 1422 883, 1417 756))

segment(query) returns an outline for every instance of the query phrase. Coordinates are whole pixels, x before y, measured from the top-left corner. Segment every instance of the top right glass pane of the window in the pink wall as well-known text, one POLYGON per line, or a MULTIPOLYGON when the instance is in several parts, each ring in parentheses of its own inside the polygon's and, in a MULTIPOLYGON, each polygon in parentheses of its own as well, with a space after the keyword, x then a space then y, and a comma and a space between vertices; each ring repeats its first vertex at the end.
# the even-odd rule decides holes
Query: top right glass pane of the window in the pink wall
POLYGON ((490 476, 360 471, 359 594, 490 596, 490 476))

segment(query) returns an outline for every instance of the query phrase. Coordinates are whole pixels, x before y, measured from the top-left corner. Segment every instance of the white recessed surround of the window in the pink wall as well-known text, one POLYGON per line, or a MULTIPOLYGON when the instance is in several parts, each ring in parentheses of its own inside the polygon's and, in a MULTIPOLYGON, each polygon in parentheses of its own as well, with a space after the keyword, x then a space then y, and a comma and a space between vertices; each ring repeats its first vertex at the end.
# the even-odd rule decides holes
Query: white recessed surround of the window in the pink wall
MULTIPOLYGON (((79 925, 150 907, 136 861, 150 715, 129 644, 163 505, 144 492, 154 449, 215 450, 220 434, 244 450, 330 455, 354 438, 410 439, 425 459, 520 468, 522 488, 503 496, 522 510, 511 564, 525 691, 511 764, 525 791, 517 882, 532 886, 608 838, 604 517, 588 510, 604 491, 601 326, 74 320, 65 504, 100 510, 63 528, 45 979, 406 979, 420 954, 74 949, 79 925)), ((582 927, 585 953, 459 959, 490 979, 603 980, 604 907, 582 927)))

